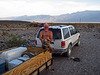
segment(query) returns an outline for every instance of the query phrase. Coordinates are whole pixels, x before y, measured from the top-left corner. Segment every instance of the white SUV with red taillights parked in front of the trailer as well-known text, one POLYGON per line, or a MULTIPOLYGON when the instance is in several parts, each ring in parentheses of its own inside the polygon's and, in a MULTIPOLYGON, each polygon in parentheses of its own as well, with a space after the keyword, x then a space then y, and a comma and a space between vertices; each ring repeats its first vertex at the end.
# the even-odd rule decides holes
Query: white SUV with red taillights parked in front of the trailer
MULTIPOLYGON (((44 30, 44 27, 40 28, 36 36, 36 47, 41 47, 39 35, 42 30, 44 30)), ((49 26, 49 30, 53 32, 53 40, 51 42, 54 48, 53 53, 60 53, 69 57, 72 47, 80 45, 80 33, 72 25, 49 26)))

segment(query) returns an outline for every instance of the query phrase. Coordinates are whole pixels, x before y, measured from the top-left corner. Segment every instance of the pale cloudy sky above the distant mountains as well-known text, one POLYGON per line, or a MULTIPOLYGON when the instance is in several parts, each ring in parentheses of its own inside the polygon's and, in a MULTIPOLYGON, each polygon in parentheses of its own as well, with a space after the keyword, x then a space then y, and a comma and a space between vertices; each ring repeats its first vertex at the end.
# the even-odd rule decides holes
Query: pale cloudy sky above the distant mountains
POLYGON ((100 0, 0 0, 0 18, 100 10, 100 0))

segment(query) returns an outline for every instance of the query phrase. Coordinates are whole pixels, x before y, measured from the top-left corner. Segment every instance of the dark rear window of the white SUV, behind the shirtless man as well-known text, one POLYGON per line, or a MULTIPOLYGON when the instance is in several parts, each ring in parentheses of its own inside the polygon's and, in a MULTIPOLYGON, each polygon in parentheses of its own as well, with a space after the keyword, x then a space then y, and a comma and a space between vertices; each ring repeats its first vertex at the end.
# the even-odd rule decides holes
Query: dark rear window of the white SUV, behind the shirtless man
MULTIPOLYGON (((39 35, 40 35, 40 32, 44 30, 44 29, 41 29, 37 35, 37 38, 39 38, 39 35)), ((61 30, 60 29, 49 29, 50 31, 52 31, 53 33, 53 39, 62 39, 61 37, 61 30)))

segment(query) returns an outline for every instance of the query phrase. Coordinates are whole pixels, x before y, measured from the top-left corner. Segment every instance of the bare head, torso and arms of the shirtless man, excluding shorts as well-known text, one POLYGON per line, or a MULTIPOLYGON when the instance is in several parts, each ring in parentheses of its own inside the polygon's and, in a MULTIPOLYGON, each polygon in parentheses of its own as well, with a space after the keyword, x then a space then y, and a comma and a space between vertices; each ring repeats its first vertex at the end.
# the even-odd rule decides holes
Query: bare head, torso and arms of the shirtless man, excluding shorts
POLYGON ((40 37, 39 38, 40 38, 42 44, 43 44, 45 39, 48 39, 50 42, 52 41, 53 33, 52 33, 52 31, 49 30, 49 25, 48 24, 44 25, 44 30, 40 32, 40 37))

